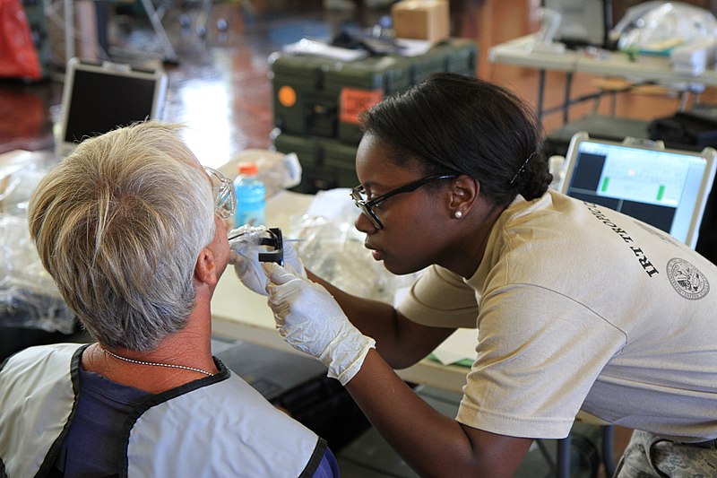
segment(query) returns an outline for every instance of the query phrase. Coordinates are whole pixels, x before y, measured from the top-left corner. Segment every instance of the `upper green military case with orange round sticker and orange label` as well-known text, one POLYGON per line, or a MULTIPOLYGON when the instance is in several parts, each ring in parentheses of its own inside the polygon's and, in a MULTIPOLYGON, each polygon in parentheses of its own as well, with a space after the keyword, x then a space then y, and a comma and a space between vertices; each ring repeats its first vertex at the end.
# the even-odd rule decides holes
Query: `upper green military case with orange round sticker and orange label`
POLYGON ((429 74, 475 75, 477 57, 470 39, 447 39, 419 56, 369 56, 349 62, 274 53, 269 57, 274 125, 289 135, 358 143, 359 113, 429 74))

